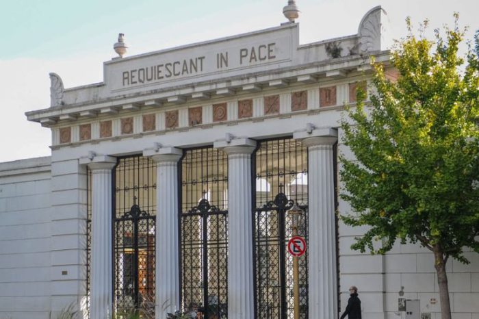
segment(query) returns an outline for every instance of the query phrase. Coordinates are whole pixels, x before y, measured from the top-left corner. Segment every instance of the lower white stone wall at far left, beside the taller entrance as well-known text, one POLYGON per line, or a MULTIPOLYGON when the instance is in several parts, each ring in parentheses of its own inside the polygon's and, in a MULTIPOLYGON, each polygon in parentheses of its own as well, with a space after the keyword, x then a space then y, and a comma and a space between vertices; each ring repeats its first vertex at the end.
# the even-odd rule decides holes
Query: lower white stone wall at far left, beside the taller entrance
POLYGON ((51 307, 50 157, 0 164, 0 318, 51 307))

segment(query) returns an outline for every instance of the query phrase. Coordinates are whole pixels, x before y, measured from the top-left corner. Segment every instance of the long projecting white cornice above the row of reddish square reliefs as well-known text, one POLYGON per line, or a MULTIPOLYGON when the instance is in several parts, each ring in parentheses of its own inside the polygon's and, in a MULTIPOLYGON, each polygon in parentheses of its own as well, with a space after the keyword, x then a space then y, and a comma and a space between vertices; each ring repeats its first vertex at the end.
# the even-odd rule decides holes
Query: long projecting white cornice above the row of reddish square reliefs
MULTIPOLYGON (((378 51, 376 62, 388 64, 389 51, 378 51)), ((298 83, 319 83, 332 78, 346 78, 353 73, 370 72, 370 56, 350 55, 308 64, 298 64, 272 71, 246 73, 235 77, 222 77, 214 81, 172 86, 147 92, 135 92, 86 103, 60 105, 25 113, 28 120, 44 127, 73 124, 105 114, 122 116, 142 107, 174 107, 192 101, 215 97, 234 96, 244 92, 257 92, 268 88, 293 86, 298 83)), ((99 84, 96 84, 98 86, 99 84)))

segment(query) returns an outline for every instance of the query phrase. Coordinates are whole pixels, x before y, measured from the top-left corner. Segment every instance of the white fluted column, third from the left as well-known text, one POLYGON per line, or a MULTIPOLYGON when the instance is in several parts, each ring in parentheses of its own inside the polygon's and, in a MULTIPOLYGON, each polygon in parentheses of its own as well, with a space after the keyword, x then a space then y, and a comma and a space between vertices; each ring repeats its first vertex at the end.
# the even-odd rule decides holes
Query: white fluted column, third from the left
POLYGON ((228 318, 255 318, 251 153, 256 142, 215 142, 228 154, 228 318))

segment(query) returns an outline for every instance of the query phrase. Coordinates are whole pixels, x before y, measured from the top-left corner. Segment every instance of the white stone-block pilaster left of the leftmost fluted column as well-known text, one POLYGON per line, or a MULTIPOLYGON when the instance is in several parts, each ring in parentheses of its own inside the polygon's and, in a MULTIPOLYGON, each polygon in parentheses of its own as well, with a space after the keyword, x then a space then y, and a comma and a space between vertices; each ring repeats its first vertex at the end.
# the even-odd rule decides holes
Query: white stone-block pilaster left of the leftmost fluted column
POLYGON ((78 159, 51 162, 50 198, 49 292, 56 318, 67 305, 79 311, 86 305, 86 167, 78 159))

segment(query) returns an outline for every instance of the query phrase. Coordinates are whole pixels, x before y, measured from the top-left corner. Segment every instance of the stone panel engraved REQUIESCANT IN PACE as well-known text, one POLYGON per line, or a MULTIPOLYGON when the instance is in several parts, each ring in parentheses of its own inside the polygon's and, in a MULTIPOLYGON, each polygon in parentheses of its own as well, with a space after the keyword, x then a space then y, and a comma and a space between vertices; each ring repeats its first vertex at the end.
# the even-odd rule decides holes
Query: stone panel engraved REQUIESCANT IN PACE
POLYGON ((200 47, 194 54, 186 49, 166 51, 145 56, 134 66, 122 63, 107 64, 107 70, 113 71, 112 89, 150 86, 165 81, 290 60, 291 34, 286 31, 280 33, 281 36, 274 36, 268 41, 259 42, 254 39, 253 42, 245 43, 244 40, 233 40, 235 43, 225 47, 200 47))

